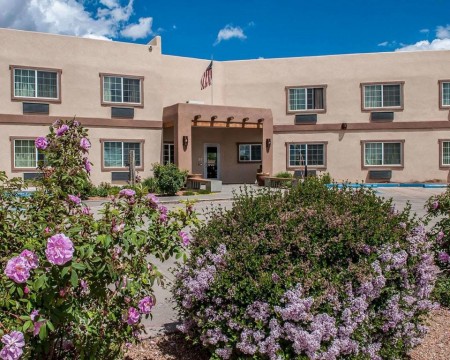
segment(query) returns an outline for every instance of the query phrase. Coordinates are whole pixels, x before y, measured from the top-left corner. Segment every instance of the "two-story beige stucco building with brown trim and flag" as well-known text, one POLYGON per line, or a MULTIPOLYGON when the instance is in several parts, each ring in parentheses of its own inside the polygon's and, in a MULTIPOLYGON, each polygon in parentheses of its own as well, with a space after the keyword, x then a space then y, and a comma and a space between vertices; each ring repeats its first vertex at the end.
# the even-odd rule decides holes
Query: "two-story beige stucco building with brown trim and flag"
POLYGON ((89 128, 94 183, 173 161, 224 183, 257 169, 337 181, 447 182, 450 51, 215 61, 148 45, 0 29, 0 169, 30 178, 34 138, 58 118, 89 128))

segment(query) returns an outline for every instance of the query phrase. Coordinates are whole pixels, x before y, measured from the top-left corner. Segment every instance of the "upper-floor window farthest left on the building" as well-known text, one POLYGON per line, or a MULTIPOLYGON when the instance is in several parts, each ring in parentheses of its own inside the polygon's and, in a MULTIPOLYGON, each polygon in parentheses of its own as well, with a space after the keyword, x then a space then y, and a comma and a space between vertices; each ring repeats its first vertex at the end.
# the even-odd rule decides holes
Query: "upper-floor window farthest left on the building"
POLYGON ((44 99, 59 101, 60 70, 39 70, 12 67, 13 99, 44 99))

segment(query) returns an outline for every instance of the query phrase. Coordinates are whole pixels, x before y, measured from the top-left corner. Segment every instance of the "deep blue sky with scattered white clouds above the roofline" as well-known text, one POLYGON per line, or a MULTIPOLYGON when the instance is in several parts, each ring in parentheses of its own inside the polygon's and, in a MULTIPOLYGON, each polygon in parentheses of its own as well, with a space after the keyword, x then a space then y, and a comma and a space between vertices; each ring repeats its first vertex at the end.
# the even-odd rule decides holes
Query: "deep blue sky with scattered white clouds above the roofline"
POLYGON ((0 0, 0 27, 216 60, 450 50, 450 0, 0 0))

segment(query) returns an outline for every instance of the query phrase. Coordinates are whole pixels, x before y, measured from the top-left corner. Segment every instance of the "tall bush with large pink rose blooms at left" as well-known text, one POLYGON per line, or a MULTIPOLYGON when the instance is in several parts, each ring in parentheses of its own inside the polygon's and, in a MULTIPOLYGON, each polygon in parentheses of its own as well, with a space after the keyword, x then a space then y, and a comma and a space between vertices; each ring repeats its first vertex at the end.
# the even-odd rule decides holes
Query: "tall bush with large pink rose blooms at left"
POLYGON ((46 163, 32 196, 0 174, 0 358, 120 358, 163 280, 149 255, 183 255, 195 214, 189 204, 168 211, 136 187, 94 217, 76 192, 89 181, 86 130, 59 121, 36 147, 46 163))

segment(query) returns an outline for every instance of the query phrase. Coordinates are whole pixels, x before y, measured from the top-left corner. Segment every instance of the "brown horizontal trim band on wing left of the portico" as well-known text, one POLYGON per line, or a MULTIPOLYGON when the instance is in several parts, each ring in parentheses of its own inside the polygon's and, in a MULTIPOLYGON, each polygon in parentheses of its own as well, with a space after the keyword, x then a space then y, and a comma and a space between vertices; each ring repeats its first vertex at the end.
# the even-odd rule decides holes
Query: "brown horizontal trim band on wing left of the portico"
MULTIPOLYGON (((72 118, 73 116, 48 115, 12 115, 0 114, 0 124, 12 125, 51 125, 57 119, 72 118)), ((130 128, 130 129, 162 129, 162 121, 157 120, 118 120, 99 118, 76 118, 83 126, 100 128, 130 128)))

